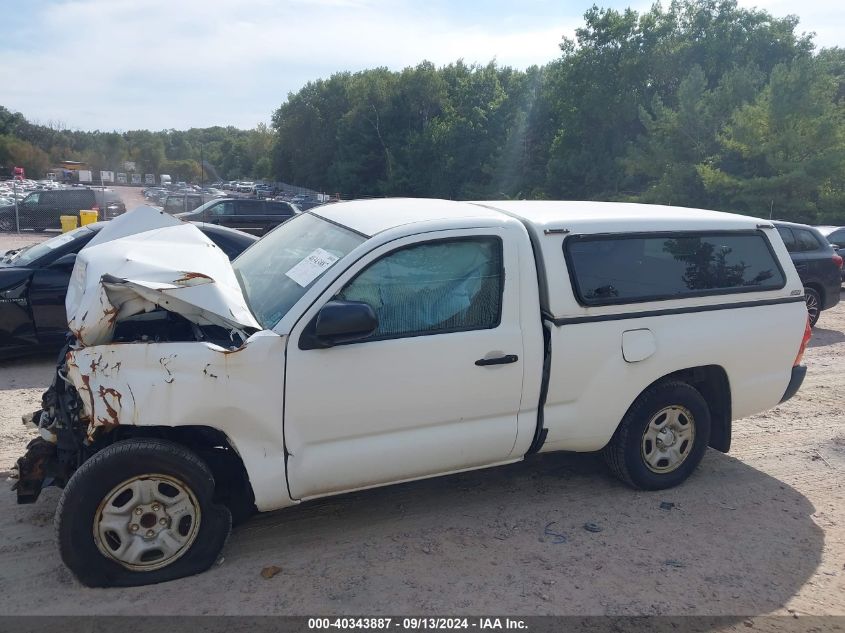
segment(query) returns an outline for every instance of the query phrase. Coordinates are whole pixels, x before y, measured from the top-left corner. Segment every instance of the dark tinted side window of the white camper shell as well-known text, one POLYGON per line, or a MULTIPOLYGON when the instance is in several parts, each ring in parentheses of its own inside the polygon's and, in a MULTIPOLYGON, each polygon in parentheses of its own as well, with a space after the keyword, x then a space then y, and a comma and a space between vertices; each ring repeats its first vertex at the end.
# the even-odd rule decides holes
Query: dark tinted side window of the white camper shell
POLYGON ((786 284, 762 233, 573 236, 564 251, 582 305, 757 292, 786 284))

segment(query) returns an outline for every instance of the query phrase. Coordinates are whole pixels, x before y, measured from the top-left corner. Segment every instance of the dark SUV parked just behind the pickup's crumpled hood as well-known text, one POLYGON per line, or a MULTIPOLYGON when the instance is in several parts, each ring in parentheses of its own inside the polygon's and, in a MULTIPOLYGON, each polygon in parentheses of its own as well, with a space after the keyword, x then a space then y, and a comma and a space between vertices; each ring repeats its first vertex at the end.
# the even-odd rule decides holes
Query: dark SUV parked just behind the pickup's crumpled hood
POLYGON ((208 222, 228 226, 261 236, 282 222, 290 220, 297 213, 299 209, 296 206, 279 200, 218 198, 190 213, 178 213, 176 217, 188 222, 208 222))

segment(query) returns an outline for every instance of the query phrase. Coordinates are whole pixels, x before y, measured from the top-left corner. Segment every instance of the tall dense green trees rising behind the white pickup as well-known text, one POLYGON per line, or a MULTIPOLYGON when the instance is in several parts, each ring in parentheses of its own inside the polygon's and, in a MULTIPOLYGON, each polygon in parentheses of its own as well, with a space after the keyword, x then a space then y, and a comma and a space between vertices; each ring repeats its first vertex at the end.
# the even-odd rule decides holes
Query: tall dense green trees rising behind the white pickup
POLYGON ((423 62, 307 84, 274 171, 347 196, 628 200, 845 223, 845 51, 734 0, 593 7, 525 71, 423 62))

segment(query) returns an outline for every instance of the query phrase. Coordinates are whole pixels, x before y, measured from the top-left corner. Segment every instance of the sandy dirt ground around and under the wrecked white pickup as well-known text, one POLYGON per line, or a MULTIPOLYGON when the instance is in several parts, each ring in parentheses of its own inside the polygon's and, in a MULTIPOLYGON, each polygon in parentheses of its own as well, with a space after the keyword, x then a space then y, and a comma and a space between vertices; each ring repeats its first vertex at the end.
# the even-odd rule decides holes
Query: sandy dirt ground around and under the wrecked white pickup
POLYGON ((8 489, 53 360, 7 362, 0 613, 845 614, 845 302, 806 362, 795 398, 735 423, 731 453, 674 490, 631 491, 593 455, 534 457, 259 516, 204 574, 110 590, 59 560, 59 491, 18 506, 8 489))

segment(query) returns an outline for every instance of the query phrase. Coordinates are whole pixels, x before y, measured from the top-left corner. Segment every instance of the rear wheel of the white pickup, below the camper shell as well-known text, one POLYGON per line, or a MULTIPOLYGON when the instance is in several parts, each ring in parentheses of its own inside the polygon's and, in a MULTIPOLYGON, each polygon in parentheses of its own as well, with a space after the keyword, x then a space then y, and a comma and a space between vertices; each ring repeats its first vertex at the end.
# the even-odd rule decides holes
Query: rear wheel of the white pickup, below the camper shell
POLYGON ((604 449, 610 470, 641 490, 682 483, 710 442, 710 409, 684 382, 658 383, 640 394, 604 449))

